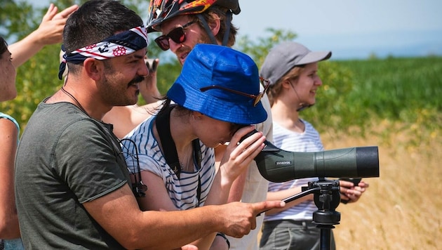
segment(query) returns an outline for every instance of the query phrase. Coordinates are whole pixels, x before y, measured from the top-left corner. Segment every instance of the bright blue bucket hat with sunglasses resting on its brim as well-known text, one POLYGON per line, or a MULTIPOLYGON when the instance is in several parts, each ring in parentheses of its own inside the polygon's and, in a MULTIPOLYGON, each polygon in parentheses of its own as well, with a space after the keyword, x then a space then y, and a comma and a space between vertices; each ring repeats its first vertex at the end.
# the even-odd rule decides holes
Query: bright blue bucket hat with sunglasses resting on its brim
POLYGON ((254 96, 260 93, 255 62, 226 46, 197 44, 187 55, 182 72, 167 96, 188 110, 220 121, 250 125, 267 119, 261 102, 254 105, 254 98, 234 91, 254 96), (204 87, 210 88, 200 89, 204 87))

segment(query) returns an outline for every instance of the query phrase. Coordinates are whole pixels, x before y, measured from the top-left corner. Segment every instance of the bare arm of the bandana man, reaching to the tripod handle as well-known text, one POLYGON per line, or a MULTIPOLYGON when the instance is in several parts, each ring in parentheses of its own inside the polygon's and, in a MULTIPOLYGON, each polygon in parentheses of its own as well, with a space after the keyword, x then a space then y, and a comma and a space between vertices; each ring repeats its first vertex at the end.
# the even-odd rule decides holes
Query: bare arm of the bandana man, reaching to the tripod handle
POLYGON ((185 211, 140 211, 129 185, 83 203, 95 221, 126 249, 176 249, 213 232, 243 237, 256 228, 258 213, 284 205, 279 201, 232 202, 185 211))

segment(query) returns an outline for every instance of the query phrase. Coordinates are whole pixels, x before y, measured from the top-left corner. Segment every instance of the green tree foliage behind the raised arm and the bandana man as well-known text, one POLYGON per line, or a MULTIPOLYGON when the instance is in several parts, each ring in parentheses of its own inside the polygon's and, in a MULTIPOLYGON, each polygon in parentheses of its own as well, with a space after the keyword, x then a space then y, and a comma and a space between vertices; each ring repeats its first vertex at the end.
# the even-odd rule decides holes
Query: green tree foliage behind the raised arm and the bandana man
MULTIPOLYGON (((48 6, 36 7, 32 1, 2 0, 0 9, 0 34, 9 44, 18 41, 34 31, 40 24, 48 6)), ((59 10, 73 4, 83 4, 83 1, 60 0, 57 2, 59 10)), ((143 0, 124 0, 123 4, 147 17, 149 2, 143 0)), ((152 54, 159 54, 159 48, 154 44, 149 46, 152 54), (156 52, 155 52, 156 51, 156 52)), ((43 98, 57 91, 62 81, 58 79, 60 65, 60 44, 46 46, 17 71, 16 86, 18 97, 15 100, 0 103, 0 110, 17 119, 22 130, 27 120, 43 98)))

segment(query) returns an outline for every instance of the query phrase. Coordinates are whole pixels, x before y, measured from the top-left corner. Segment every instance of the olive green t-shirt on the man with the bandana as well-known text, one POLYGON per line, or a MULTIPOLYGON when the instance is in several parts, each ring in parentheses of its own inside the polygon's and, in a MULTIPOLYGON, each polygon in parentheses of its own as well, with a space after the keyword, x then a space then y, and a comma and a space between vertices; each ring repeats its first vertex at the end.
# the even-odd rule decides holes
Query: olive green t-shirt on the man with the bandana
POLYGON ((15 199, 26 249, 122 249, 82 205, 128 185, 112 126, 40 103, 20 138, 15 199))

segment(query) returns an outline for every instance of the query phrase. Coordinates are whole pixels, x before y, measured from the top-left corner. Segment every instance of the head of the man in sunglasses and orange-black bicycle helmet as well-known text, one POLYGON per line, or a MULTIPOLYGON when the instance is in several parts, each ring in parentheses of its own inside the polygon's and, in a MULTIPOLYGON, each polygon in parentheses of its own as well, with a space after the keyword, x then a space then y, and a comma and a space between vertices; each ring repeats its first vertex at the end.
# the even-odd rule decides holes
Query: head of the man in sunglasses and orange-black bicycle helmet
POLYGON ((156 44, 163 51, 170 48, 183 64, 196 43, 233 46, 238 28, 232 15, 240 12, 238 0, 154 0, 147 32, 162 32, 156 44))

